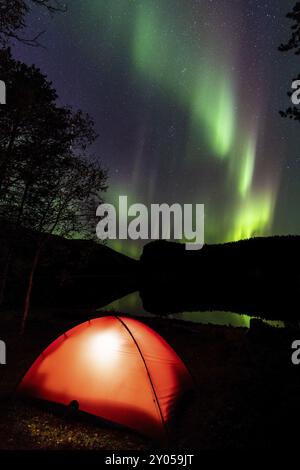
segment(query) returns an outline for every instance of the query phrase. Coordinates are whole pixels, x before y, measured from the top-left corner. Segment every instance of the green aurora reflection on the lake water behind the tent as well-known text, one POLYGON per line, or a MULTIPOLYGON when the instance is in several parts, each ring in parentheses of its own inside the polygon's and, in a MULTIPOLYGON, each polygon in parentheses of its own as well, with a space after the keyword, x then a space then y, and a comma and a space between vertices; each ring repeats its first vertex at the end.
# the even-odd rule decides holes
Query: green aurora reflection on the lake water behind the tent
MULTIPOLYGON (((145 310, 142 300, 138 292, 133 292, 118 300, 111 302, 105 307, 101 307, 98 311, 112 311, 122 312, 125 314, 135 316, 155 317, 153 313, 145 310)), ((181 313, 168 313, 166 312, 167 319, 189 321, 193 323, 213 324, 213 325, 226 325, 234 328, 250 328, 252 318, 257 318, 256 315, 243 315, 233 312, 223 311, 197 311, 197 312, 181 312, 181 313)), ((282 321, 264 320, 270 326, 276 328, 284 328, 285 324, 282 321)))

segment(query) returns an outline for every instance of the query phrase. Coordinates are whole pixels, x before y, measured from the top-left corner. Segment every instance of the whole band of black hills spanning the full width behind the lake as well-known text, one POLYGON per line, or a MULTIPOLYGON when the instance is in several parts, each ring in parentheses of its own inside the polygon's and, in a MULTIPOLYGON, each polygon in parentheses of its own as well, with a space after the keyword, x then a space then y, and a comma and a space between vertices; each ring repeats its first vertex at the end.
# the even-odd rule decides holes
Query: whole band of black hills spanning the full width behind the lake
MULTIPOLYGON (((4 309, 22 305, 34 237, 23 230, 16 243, 4 309)), ((205 245, 199 251, 155 241, 136 261, 93 241, 53 235, 42 253, 32 305, 83 314, 139 291, 152 314, 228 311, 298 324, 299 248, 300 236, 205 245)), ((0 261, 5 252, 2 239, 0 261)))

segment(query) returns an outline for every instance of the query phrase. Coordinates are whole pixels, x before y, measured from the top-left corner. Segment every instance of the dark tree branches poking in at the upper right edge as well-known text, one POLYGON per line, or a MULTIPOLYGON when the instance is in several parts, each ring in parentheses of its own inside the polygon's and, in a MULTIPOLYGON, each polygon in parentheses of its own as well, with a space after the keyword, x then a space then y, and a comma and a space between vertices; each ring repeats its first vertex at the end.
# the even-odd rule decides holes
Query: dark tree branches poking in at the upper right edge
MULTIPOLYGON (((279 50, 281 52, 293 52, 295 55, 300 55, 300 2, 297 2, 293 11, 287 14, 293 23, 291 25, 291 36, 287 43, 281 44, 279 50)), ((300 80, 300 75, 294 80, 300 80)), ((293 81, 294 81, 293 80, 293 81)), ((291 97, 292 93, 288 93, 291 97)), ((286 111, 280 111, 282 117, 288 117, 295 121, 300 121, 300 109, 296 106, 290 106, 286 111)))

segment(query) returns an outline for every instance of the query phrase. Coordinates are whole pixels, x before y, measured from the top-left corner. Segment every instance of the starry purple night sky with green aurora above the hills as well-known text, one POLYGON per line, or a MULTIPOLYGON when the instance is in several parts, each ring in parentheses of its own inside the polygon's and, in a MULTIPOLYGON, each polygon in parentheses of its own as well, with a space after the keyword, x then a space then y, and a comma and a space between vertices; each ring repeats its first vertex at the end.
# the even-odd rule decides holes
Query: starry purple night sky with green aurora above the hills
POLYGON ((279 115, 300 69, 278 51, 294 0, 66 3, 28 19, 43 48, 14 53, 94 118, 107 202, 203 203, 206 243, 300 233, 300 127, 279 115))

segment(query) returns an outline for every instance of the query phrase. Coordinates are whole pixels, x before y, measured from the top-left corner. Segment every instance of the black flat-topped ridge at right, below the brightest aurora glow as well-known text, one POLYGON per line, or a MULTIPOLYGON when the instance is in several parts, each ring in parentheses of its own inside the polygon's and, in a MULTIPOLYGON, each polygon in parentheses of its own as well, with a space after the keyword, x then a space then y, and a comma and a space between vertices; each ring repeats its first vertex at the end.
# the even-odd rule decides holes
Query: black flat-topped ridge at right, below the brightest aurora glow
POLYGON ((150 313, 222 310, 300 321, 300 236, 253 238, 186 251, 155 241, 141 256, 150 313))

